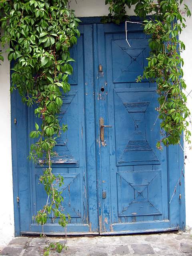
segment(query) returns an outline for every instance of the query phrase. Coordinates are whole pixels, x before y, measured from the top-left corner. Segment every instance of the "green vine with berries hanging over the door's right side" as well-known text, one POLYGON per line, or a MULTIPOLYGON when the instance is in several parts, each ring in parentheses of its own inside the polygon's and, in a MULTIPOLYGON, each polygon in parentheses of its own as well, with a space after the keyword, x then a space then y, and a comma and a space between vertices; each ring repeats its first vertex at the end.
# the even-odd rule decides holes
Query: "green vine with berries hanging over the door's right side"
MULTIPOLYGON (((182 66, 183 59, 179 50, 185 49, 184 43, 179 40, 179 34, 185 28, 184 14, 190 16, 188 6, 184 5, 181 10, 183 0, 130 0, 130 1, 106 1, 110 4, 110 14, 114 12, 113 20, 120 23, 120 12, 124 21, 126 12, 125 6, 129 8, 136 4, 135 13, 141 18, 152 15, 150 19, 144 20, 144 32, 150 35, 149 46, 151 48, 148 58, 148 66, 145 67, 142 76, 137 78, 140 82, 146 78, 156 81, 157 93, 159 94, 158 117, 161 122, 162 139, 157 143, 157 148, 162 149, 170 144, 178 144, 184 133, 186 141, 190 142, 190 131, 188 130, 188 121, 190 111, 186 106, 186 96, 183 90, 186 84, 183 79, 182 66), (121 6, 118 9, 117 6, 121 6)), ((108 16, 109 17, 109 16, 108 16)), ((105 17, 104 17, 105 19, 105 17)), ((108 19, 109 21, 109 19, 108 19)), ((107 20, 103 20, 107 22, 107 20)))

